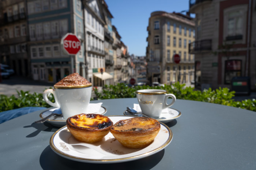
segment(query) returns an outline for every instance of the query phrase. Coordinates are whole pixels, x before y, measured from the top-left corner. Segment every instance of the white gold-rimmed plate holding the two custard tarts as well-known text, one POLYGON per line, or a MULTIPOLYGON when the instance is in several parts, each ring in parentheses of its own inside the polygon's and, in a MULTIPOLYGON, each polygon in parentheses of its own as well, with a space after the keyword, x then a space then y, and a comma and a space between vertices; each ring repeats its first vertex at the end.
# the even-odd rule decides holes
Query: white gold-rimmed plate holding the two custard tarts
MULTIPOLYGON (((133 116, 109 116, 113 123, 119 120, 129 119, 133 116)), ((161 123, 161 129, 154 141, 142 149, 129 149, 122 146, 111 133, 108 133, 101 141, 89 144, 77 141, 67 129, 61 127, 50 138, 52 150, 61 157, 79 162, 89 163, 116 163, 126 162, 155 154, 172 141, 172 131, 161 123), (80 143, 79 145, 71 145, 80 143), (82 145, 87 145, 82 146, 82 145)))

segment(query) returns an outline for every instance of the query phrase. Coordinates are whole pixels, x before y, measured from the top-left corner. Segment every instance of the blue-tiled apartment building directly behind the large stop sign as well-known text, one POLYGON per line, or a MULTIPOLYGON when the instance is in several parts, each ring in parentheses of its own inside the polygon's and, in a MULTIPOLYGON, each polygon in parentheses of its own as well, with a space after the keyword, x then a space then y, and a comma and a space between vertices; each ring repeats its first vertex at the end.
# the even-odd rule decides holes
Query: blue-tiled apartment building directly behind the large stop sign
POLYGON ((29 55, 34 80, 56 83, 78 72, 85 76, 83 8, 80 0, 27 0, 29 55), (69 56, 61 48, 61 37, 74 33, 81 50, 69 56))

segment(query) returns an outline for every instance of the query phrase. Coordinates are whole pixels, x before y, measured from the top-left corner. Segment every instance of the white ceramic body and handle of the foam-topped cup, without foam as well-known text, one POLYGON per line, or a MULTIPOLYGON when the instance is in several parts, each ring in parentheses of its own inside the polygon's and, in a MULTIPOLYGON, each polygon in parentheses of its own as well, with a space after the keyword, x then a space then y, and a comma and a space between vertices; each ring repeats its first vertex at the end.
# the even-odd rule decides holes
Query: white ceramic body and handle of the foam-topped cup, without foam
POLYGON ((91 90, 91 86, 83 88, 47 89, 44 91, 43 97, 49 105, 59 107, 63 118, 67 119, 70 116, 87 112, 87 107, 91 99, 91 90), (50 93, 54 96, 54 103, 47 98, 47 95, 50 93))

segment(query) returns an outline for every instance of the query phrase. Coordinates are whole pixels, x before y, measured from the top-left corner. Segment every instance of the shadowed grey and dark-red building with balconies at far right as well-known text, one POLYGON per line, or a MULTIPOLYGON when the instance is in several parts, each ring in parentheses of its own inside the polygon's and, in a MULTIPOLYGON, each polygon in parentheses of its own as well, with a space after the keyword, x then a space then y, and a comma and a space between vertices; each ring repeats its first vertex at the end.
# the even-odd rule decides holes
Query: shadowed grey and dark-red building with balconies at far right
MULTIPOLYGON (((233 77, 249 76, 256 84, 256 0, 189 1, 195 13, 196 85, 231 88, 233 77)), ((245 82, 246 83, 246 82, 245 82)))

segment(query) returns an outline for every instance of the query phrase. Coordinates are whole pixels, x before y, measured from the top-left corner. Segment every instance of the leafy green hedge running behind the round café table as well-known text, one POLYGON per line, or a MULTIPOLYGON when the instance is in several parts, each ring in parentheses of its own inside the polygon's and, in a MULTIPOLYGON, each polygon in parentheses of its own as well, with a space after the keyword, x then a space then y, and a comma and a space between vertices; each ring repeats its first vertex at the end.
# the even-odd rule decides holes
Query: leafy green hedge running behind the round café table
MULTIPOLYGON (((150 86, 135 86, 128 87, 123 83, 117 84, 115 86, 109 85, 105 86, 102 92, 99 92, 96 88, 94 88, 94 93, 96 98, 91 98, 91 100, 100 100, 100 99, 115 99, 115 98, 136 98, 136 90, 140 89, 163 89, 168 93, 172 93, 176 95, 177 99, 185 99, 185 100, 195 100, 201 102, 210 102, 223 104, 226 106, 233 106, 244 108, 247 110, 256 111, 255 99, 243 100, 241 102, 234 101, 232 97, 234 96, 234 91, 230 91, 228 88, 218 88, 216 90, 212 90, 209 88, 208 90, 198 91, 192 87, 184 87, 185 84, 175 83, 172 85, 165 85, 164 87, 150 87, 150 86)), ((0 95, 0 112, 6 110, 12 110, 15 108, 21 107, 51 107, 48 105, 44 99, 42 94, 33 93, 30 94, 29 91, 17 91, 18 97, 14 95, 8 97, 6 95, 0 95)), ((52 95, 49 96, 49 100, 54 102, 54 98, 52 95)))

